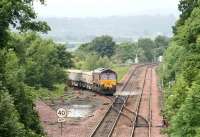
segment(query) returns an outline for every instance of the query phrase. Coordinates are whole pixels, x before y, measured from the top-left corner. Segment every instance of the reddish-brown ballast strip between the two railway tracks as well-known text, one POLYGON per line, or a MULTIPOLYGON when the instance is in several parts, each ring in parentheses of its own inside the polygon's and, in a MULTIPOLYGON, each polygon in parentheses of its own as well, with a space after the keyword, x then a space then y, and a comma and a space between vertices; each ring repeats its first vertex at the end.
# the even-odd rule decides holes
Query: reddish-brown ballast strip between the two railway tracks
POLYGON ((142 94, 143 85, 145 82, 147 66, 137 71, 137 75, 134 78, 134 84, 128 87, 132 95, 128 96, 127 103, 123 108, 122 114, 120 115, 119 121, 115 126, 112 137, 130 137, 132 130, 132 123, 136 116, 136 110, 140 95, 142 94), (134 91, 134 92, 133 92, 134 91), (123 131, 123 132, 121 132, 123 131))

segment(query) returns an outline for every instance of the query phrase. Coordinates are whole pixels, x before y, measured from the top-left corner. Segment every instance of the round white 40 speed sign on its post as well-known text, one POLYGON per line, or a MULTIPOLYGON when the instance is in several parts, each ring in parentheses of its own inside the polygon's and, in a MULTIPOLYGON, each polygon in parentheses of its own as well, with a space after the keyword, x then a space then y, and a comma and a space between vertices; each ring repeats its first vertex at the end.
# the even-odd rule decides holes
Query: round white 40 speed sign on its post
POLYGON ((64 108, 59 108, 57 110, 57 116, 58 116, 58 123, 61 125, 61 136, 62 136, 62 128, 63 128, 63 122, 65 122, 65 117, 67 116, 67 111, 64 108))

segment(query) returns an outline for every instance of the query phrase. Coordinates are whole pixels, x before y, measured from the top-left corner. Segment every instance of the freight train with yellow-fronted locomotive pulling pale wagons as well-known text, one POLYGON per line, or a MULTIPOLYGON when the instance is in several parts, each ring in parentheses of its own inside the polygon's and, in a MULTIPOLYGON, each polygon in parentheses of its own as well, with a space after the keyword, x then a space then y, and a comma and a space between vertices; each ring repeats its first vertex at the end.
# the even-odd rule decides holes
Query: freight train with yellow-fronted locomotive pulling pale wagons
POLYGON ((96 91, 104 95, 116 92, 117 74, 111 69, 99 68, 93 71, 67 70, 68 84, 72 87, 96 91))

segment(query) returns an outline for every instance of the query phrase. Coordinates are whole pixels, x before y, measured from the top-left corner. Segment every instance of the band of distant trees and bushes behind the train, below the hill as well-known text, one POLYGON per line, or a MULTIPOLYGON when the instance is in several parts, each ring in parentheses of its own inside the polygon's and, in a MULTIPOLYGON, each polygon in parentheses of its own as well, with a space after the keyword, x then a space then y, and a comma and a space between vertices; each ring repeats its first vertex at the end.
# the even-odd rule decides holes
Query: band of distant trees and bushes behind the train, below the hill
POLYGON ((110 36, 100 36, 81 45, 74 53, 74 60, 77 68, 89 70, 133 63, 136 56, 140 62, 152 62, 163 55, 168 43, 169 38, 165 36, 157 36, 154 40, 141 38, 138 42, 120 44, 116 44, 110 36))

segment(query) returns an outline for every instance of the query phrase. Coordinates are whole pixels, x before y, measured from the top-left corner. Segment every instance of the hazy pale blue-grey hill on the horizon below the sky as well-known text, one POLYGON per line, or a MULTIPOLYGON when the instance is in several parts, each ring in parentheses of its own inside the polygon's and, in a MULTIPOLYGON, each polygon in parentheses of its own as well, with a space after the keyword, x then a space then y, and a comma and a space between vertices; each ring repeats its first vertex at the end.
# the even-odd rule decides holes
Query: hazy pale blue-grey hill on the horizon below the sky
POLYGON ((119 42, 158 34, 171 36, 171 27, 176 21, 173 15, 41 19, 52 28, 48 36, 61 42, 85 42, 99 35, 110 35, 119 42))

